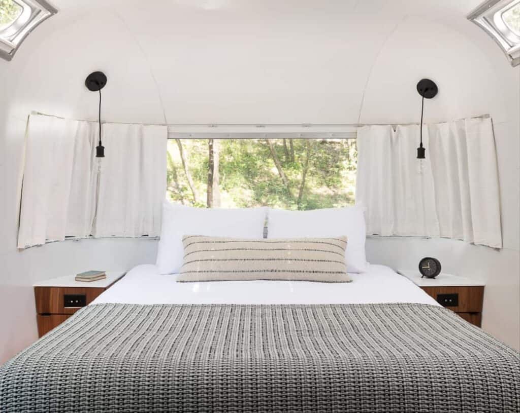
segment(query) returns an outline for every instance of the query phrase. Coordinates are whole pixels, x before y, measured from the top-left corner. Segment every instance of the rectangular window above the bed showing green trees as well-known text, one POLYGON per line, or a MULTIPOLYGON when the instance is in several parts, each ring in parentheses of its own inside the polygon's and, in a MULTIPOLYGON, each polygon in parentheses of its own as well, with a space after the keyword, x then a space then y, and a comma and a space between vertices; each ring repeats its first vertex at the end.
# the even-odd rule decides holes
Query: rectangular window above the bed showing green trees
POLYGON ((201 208, 344 207, 356 164, 355 139, 169 139, 166 197, 201 208))

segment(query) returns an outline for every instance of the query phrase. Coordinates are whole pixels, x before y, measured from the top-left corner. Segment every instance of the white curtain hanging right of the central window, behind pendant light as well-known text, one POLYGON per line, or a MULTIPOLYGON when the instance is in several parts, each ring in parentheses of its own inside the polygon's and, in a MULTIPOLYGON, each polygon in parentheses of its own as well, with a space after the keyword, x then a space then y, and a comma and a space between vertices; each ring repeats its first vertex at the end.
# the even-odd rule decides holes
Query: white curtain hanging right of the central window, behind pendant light
POLYGON ((499 181, 491 119, 358 130, 356 203, 368 233, 429 236, 502 247, 499 181))

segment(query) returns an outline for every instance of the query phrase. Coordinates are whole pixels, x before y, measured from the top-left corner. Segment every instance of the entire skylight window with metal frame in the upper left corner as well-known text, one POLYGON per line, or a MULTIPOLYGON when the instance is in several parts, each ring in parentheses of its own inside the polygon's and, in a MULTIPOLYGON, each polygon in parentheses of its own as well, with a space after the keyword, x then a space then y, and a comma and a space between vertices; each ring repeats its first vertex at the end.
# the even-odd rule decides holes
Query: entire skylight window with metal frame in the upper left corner
POLYGON ((11 60, 23 39, 56 12, 45 0, 0 0, 0 58, 11 60))

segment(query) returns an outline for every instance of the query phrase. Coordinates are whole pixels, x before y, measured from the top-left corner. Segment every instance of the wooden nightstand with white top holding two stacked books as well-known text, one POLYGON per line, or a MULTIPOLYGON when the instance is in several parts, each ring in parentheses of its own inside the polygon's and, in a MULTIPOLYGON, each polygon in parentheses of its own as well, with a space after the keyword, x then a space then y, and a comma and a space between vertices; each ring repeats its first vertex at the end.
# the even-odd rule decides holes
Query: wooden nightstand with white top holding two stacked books
POLYGON ((38 337, 90 304, 124 274, 123 271, 107 272, 107 278, 92 282, 75 281, 75 276, 65 276, 33 284, 38 337))

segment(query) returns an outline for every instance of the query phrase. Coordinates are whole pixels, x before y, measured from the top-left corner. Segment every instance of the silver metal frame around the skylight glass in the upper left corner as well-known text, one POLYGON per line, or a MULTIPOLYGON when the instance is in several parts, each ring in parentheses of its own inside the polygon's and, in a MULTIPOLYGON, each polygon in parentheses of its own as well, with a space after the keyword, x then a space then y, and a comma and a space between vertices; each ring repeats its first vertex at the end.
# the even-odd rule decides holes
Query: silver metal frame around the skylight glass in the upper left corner
POLYGON ((0 30, 0 58, 7 61, 12 60, 29 33, 58 12, 45 0, 14 0, 14 2, 23 8, 22 12, 14 22, 0 30))

